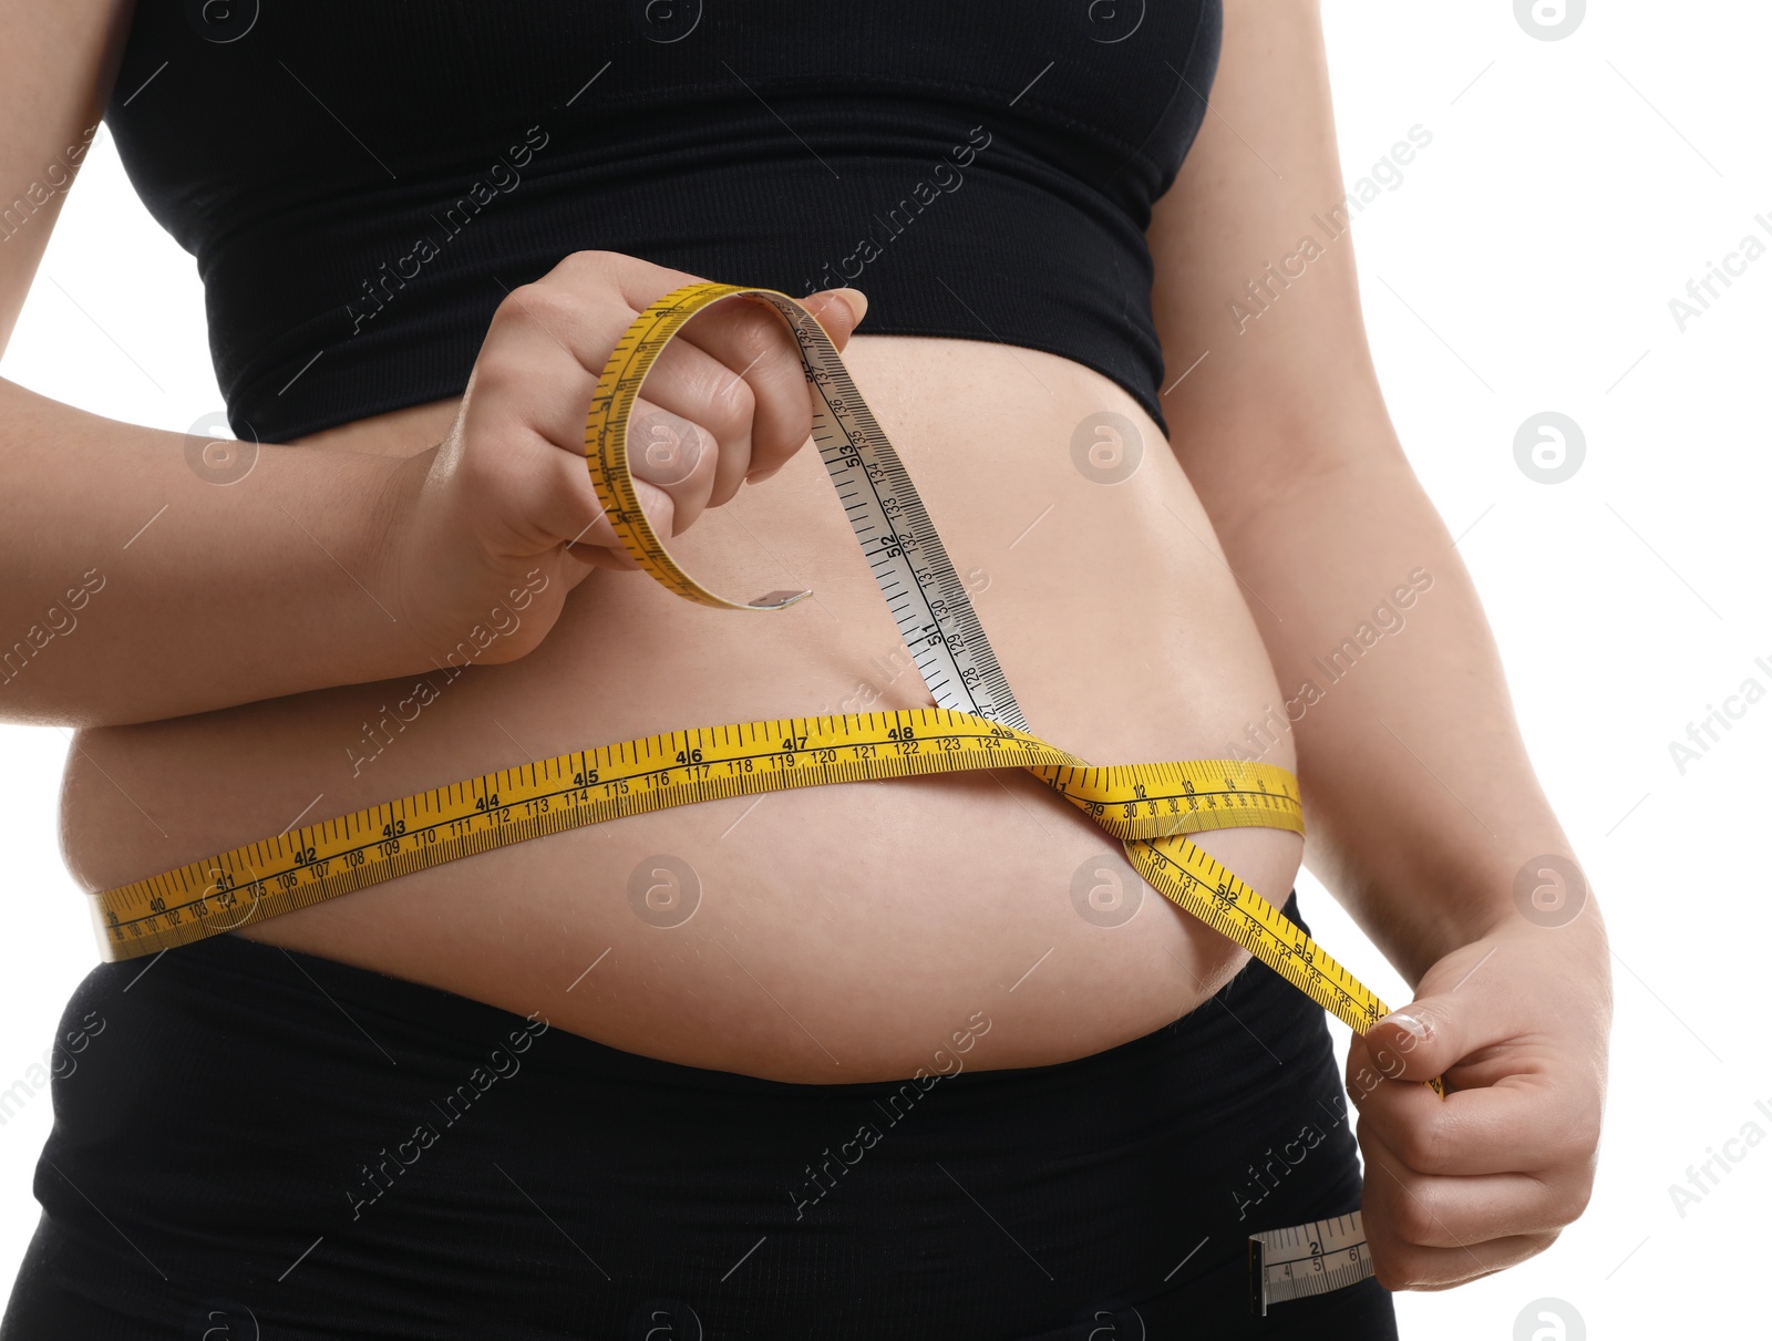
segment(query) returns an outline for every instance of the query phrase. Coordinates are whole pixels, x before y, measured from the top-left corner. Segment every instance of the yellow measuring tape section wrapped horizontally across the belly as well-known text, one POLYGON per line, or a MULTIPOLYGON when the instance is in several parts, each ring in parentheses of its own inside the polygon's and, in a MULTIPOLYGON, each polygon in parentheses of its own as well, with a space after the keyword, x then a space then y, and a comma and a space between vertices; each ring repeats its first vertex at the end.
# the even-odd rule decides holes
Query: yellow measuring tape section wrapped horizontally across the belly
POLYGON ((1022 767, 1115 836, 1237 826, 1302 831, 1290 774, 1237 760, 1092 767, 1038 737, 948 709, 666 732, 558 755, 321 820, 105 898, 119 958, 276 916, 445 861, 649 810, 794 787, 1022 767), (126 891, 140 891, 133 900, 126 891), (131 907, 133 903, 133 907, 131 907), (245 921, 245 916, 241 916, 245 921))

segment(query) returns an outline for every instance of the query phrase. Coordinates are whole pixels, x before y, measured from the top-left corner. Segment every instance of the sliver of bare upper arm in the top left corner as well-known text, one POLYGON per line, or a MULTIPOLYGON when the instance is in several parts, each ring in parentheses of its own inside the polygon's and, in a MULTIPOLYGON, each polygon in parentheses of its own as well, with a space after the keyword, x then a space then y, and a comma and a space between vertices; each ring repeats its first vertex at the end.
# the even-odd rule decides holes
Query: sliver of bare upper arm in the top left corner
POLYGON ((133 0, 0 0, 0 351, 105 113, 133 0))

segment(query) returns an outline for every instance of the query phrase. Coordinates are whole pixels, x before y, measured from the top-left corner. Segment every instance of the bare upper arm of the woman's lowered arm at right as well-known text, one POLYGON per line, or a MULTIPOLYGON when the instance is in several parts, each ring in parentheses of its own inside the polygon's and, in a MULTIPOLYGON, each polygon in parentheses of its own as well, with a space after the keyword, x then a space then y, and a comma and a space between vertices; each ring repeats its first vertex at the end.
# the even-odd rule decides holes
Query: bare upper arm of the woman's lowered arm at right
POLYGON ((1164 418, 1221 528, 1313 468, 1396 450, 1343 195, 1315 0, 1224 0, 1205 122, 1148 230, 1164 418))

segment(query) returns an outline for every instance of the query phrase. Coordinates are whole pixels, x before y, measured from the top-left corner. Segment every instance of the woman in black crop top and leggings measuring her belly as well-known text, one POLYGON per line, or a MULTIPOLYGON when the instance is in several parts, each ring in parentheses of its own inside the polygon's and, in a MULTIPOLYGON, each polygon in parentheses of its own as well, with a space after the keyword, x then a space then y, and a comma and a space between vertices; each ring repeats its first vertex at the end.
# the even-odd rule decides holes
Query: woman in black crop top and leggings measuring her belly
MULTIPOLYGON (((4 689, 80 726, 89 891, 569 749, 925 705, 757 305, 666 351, 636 475, 714 590, 817 601, 695 606, 599 519, 595 377, 714 278, 810 294, 1033 728, 1297 771, 1416 1001, 1350 1050, 1361 1189, 1322 1012, 1026 772, 633 815, 96 969, 7 1337, 1391 1336, 1386 1290, 1581 1213, 1604 930, 1517 898, 1568 841, 1352 246, 1301 243, 1345 197, 1313 5, 41 9, 7 179, 108 101, 260 443, 0 388, 7 627, 106 579, 4 689), (1356 1206, 1377 1281, 1249 1318, 1247 1235, 1356 1206)), ((1274 902, 1304 856, 1196 841, 1274 902)))

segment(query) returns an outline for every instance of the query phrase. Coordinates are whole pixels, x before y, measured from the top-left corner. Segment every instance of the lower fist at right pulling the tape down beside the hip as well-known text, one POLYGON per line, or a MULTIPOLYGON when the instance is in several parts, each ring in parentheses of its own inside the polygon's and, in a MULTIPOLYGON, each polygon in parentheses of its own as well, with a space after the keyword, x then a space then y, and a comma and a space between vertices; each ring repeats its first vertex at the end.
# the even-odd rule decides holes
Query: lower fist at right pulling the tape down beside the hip
POLYGON ((1512 912, 1348 1047, 1379 1284, 1446 1290, 1543 1252, 1588 1205, 1611 1031, 1605 928, 1512 912), (1411 1027, 1416 1026, 1416 1027, 1411 1027), (1446 1098, 1418 1084, 1446 1081, 1446 1098))

